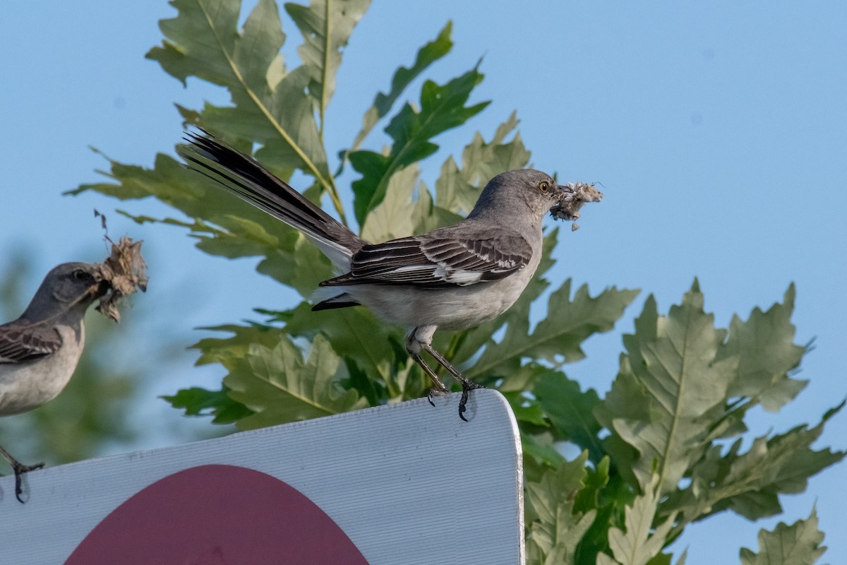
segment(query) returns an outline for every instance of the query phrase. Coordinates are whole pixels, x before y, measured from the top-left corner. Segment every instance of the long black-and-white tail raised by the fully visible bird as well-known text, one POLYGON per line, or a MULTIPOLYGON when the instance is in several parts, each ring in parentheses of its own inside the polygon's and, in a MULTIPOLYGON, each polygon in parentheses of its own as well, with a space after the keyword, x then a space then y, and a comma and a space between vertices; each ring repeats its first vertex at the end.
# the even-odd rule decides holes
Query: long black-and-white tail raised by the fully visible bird
POLYGON ((176 151, 192 169, 216 180, 242 200, 302 231, 336 267, 346 270, 364 241, 300 192, 242 152, 213 136, 187 133, 176 151))

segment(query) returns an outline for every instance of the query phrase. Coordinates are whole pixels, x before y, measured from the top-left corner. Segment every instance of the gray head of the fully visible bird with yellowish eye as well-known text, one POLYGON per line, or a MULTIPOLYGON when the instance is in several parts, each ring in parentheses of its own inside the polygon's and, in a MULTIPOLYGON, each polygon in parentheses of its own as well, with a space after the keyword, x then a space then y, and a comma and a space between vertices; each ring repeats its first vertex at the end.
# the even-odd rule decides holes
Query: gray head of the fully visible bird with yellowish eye
POLYGON ((549 174, 535 169, 515 169, 488 181, 468 218, 529 218, 534 224, 571 192, 549 174))

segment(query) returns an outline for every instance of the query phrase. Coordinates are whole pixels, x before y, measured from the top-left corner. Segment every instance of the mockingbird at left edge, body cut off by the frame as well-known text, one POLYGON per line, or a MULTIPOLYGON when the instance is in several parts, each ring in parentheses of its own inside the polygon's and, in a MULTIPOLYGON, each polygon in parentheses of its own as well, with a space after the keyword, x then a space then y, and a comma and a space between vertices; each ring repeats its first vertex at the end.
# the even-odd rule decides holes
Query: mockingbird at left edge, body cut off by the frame
MULTIPOLYGON (((0 325, 0 416, 32 410, 64 389, 86 341, 86 310, 108 286, 99 265, 63 263, 47 274, 19 319, 0 325)), ((23 465, 3 447, 0 456, 12 465, 14 495, 23 502, 20 475, 44 463, 23 465)))

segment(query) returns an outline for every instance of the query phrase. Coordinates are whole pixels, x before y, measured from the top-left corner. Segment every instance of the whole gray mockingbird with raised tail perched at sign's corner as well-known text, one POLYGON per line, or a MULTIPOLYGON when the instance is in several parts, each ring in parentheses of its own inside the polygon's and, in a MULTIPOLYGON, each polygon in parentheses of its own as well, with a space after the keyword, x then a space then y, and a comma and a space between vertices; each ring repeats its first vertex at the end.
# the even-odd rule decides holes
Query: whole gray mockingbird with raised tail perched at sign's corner
MULTIPOLYGON (((468 391, 479 388, 432 347, 435 330, 466 330, 494 319, 518 300, 541 259, 541 220, 573 198, 548 174, 518 169, 485 186, 468 217, 423 235, 368 243, 245 154, 211 136, 188 134, 177 152, 246 202, 300 230, 340 269, 324 280, 313 310, 357 306, 409 330, 406 349, 432 380, 447 387, 422 357, 428 352, 468 391)), ((430 402, 432 402, 430 400, 430 402)))

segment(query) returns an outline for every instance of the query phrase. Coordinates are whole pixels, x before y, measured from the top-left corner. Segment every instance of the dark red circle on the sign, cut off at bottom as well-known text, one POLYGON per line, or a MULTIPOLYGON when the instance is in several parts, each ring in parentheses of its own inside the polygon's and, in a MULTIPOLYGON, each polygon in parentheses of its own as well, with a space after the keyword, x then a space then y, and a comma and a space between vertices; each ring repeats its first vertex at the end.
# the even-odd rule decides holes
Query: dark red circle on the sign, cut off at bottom
POLYGON ((65 565, 368 565, 313 501, 253 469, 202 465, 138 491, 65 565))

